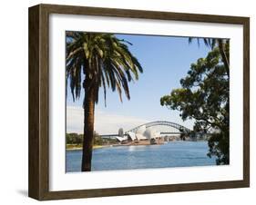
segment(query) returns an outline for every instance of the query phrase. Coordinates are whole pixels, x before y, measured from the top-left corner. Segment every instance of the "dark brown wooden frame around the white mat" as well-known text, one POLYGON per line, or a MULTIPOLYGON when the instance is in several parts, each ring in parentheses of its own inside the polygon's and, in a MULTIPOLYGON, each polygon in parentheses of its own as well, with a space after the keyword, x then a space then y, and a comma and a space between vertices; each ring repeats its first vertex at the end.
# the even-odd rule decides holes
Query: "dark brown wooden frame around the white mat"
POLYGON ((29 177, 28 195, 36 200, 59 200, 146 194, 184 190, 213 190, 250 186, 250 18, 223 15, 124 10, 70 5, 36 5, 29 8, 29 177), (48 31, 50 14, 101 15, 142 19, 243 25, 243 180, 164 184, 94 190, 49 191, 49 78, 48 31))

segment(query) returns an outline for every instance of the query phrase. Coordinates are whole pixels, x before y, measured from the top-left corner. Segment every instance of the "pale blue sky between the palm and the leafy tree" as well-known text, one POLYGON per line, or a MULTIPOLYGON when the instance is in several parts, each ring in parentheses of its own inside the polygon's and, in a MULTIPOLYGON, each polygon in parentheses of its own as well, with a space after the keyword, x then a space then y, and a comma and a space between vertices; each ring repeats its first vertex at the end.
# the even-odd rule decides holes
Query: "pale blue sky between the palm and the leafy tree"
MULTIPOLYGON (((144 72, 139 74, 138 81, 129 83, 130 100, 123 95, 119 101, 118 93, 107 92, 107 107, 104 103, 102 89, 96 105, 95 130, 100 134, 117 133, 118 128, 124 131, 144 122, 165 120, 178 122, 192 128, 193 122, 183 122, 178 111, 171 111, 160 105, 160 98, 179 88, 179 80, 186 76, 191 63, 205 57, 210 48, 189 44, 187 37, 154 36, 137 34, 117 34, 132 45, 128 47, 138 58, 144 72)), ((70 89, 67 94, 67 132, 83 131, 82 101, 73 102, 70 89)))

